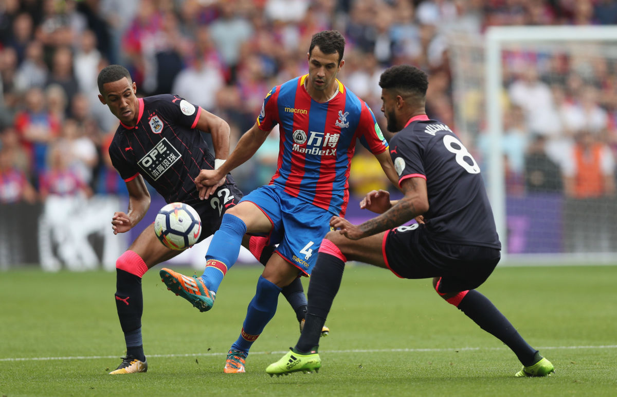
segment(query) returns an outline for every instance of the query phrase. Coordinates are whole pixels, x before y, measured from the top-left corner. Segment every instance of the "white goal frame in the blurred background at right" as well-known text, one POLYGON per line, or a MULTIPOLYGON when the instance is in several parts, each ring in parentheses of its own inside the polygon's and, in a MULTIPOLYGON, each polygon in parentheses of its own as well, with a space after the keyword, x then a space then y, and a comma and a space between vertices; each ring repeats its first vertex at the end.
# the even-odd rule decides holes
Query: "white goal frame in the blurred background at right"
MULTIPOLYGON (((613 46, 613 50, 617 48, 617 27, 616 26, 516 26, 516 27, 489 27, 486 30, 484 36, 480 38, 462 38, 462 36, 452 36, 450 39, 450 49, 459 46, 458 49, 453 49, 453 56, 450 61, 452 62, 453 69, 453 86, 455 87, 455 107, 465 106, 462 95, 456 95, 457 84, 464 84, 461 80, 467 79, 469 76, 470 67, 457 66, 457 62, 474 62, 474 66, 479 69, 474 74, 474 79, 478 85, 484 85, 479 87, 480 93, 478 95, 484 96, 483 100, 479 101, 484 103, 480 105, 480 112, 484 117, 484 128, 487 131, 487 158, 485 159, 484 169, 488 172, 486 179, 487 191, 489 199, 491 201, 492 209, 495 215, 495 223, 497 224, 497 231, 503 244, 502 257, 504 263, 521 265, 524 263, 536 264, 536 263, 593 263, 593 264, 615 264, 617 263, 617 255, 615 252, 607 252, 606 250, 598 250, 597 252, 573 252, 568 250, 566 252, 533 252, 533 253, 511 253, 510 247, 508 247, 508 218, 507 218, 507 194, 505 184, 505 171, 504 171, 504 159, 502 152, 502 139, 504 134, 503 129, 503 64, 502 54, 503 51, 515 46, 516 48, 524 48, 525 46, 542 46, 548 44, 554 48, 568 48, 569 45, 576 43, 579 46, 586 46, 587 43, 594 43, 594 45, 602 45, 609 48, 613 46), (458 41, 458 43, 457 43, 458 41), (461 44, 463 43, 463 44, 461 44), (472 44, 470 44, 472 43, 472 44), (461 47, 462 45, 462 47, 461 47), (474 56, 470 55, 473 51, 476 51, 474 56), (458 56, 457 56, 458 51, 458 56), (458 57, 458 58, 457 58, 458 57), (469 61, 471 58, 476 58, 473 61, 469 61), (456 68, 459 68, 458 73, 456 68), (468 75, 462 75, 460 73, 461 68, 465 69, 468 75), (482 75, 482 69, 484 74, 482 75), (458 74, 458 76, 457 76, 458 74), (457 81, 458 79, 458 81, 457 81), (457 104, 458 101, 458 104, 457 104)), ((567 49, 564 49, 567 51, 567 49)), ((617 56, 614 51, 611 55, 611 61, 617 60, 617 56)), ((617 65, 617 62, 615 62, 617 65)), ((468 83, 469 84, 469 83, 468 83)), ((460 94, 460 93, 459 93, 460 94)), ((479 106, 479 107, 480 107, 479 106)), ((465 110, 465 109, 464 109, 465 110)), ((459 111, 465 113, 465 111, 459 111)), ((457 117, 457 121, 460 121, 460 117, 457 117)), ((463 123, 461 123, 463 124, 463 123)), ((471 129, 476 129, 478 124, 474 124, 471 129)), ((457 128, 458 128, 457 122, 457 128)), ((459 128, 464 130, 465 128, 459 128)), ((470 131, 463 131, 470 133, 470 131)), ((475 134, 475 133, 472 133, 475 134)), ((483 169, 483 171, 484 171, 483 169)), ((599 210, 598 210, 599 211, 599 210)), ((565 215, 567 216, 567 214, 565 215)), ((539 220, 540 221, 540 220, 539 220)), ((533 227, 533 226, 531 226, 533 227)), ((510 231, 512 226, 510 225, 510 231)))

